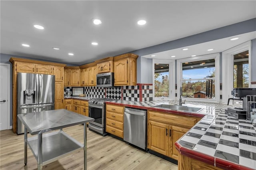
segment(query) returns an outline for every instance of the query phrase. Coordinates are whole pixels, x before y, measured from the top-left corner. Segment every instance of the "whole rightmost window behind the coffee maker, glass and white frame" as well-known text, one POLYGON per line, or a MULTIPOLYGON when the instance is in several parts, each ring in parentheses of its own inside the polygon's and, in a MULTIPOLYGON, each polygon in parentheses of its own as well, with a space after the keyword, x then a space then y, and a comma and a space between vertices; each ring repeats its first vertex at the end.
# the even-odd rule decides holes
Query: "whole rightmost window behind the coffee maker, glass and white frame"
POLYGON ((233 88, 246 88, 250 84, 251 41, 222 52, 222 102, 232 98, 233 88))

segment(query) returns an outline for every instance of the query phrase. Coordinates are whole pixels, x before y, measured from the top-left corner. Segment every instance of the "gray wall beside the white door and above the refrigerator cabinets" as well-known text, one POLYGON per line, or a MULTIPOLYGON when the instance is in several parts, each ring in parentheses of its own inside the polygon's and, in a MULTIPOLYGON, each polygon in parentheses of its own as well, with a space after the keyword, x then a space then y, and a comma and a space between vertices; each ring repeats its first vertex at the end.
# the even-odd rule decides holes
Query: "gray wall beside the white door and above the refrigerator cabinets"
MULTIPOLYGON (((30 57, 24 57, 24 56, 18 56, 18 55, 9 55, 9 54, 3 54, 0 53, 0 63, 7 63, 10 64, 10 126, 12 126, 12 63, 10 63, 9 59, 11 57, 16 57, 16 58, 24 58, 24 59, 34 59, 30 57)), ((53 62, 53 63, 58 63, 56 61, 49 61, 49 60, 44 60, 44 59, 34 59, 34 60, 39 60, 39 61, 48 61, 48 62, 53 62)), ((60 62, 61 63, 61 62, 60 62)), ((69 63, 63 63, 68 66, 78 66, 74 64, 69 64, 69 63)))

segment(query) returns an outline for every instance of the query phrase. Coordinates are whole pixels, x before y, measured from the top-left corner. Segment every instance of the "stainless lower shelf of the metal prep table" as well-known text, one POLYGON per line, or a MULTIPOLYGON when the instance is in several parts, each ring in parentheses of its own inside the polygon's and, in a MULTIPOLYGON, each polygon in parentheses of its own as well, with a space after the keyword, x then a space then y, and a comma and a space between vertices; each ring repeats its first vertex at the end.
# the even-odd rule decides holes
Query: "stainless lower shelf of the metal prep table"
MULTIPOLYGON (((27 143, 36 157, 36 160, 38 160, 38 136, 27 138, 27 143)), ((43 134, 42 166, 83 149, 83 144, 62 130, 43 134)))

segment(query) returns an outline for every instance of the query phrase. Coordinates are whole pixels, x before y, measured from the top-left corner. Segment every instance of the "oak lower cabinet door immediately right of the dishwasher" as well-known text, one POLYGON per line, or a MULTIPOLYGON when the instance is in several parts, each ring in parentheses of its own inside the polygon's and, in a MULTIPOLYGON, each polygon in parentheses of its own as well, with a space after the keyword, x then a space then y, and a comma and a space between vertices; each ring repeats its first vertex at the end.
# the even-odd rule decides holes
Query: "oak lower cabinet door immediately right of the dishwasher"
POLYGON ((148 121, 148 148, 169 156, 169 125, 148 121))

